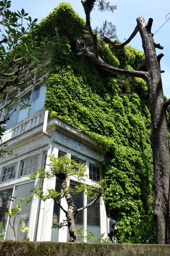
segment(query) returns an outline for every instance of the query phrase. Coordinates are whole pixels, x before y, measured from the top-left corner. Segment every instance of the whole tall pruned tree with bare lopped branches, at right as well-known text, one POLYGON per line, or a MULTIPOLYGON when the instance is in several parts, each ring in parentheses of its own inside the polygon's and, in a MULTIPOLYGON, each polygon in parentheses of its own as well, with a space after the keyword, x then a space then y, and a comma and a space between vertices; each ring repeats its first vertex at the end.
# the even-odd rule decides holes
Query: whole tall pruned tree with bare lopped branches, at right
POLYGON ((170 191, 169 191, 169 178, 170 178, 170 153, 169 153, 169 139, 168 128, 166 120, 166 110, 170 105, 170 99, 164 101, 160 60, 163 54, 156 56, 155 48, 163 49, 160 44, 156 44, 151 33, 151 27, 153 19, 149 19, 146 24, 143 17, 137 18, 137 25, 130 35, 130 37, 123 43, 117 43, 110 38, 104 36, 105 42, 107 42, 112 49, 122 49, 128 44, 134 36, 139 32, 142 39, 142 45, 145 54, 145 61, 140 64, 136 71, 124 70, 117 67, 106 64, 98 53, 98 38, 97 34, 92 30, 90 25, 90 13, 95 4, 98 4, 101 11, 109 9, 113 11, 113 8, 109 6, 104 0, 82 0, 82 5, 86 14, 86 28, 93 41, 93 50, 87 47, 82 41, 77 40, 77 44, 81 49, 83 55, 93 59, 93 63, 99 65, 102 69, 124 76, 132 77, 132 88, 129 91, 123 91, 123 93, 133 93, 136 89, 134 77, 140 77, 148 83, 148 90, 150 99, 150 112, 151 112, 151 147, 153 152, 153 167, 154 167, 154 181, 153 189, 155 192, 154 200, 154 213, 153 217, 156 224, 156 243, 158 244, 170 244, 170 191), (140 71, 141 67, 146 63, 147 71, 140 71))

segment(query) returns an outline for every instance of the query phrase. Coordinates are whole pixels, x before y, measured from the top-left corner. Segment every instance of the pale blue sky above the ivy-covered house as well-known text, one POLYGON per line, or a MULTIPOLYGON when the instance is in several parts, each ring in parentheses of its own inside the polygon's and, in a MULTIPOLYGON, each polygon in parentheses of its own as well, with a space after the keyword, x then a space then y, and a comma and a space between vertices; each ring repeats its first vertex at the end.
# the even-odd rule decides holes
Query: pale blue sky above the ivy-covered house
MULTIPOLYGON (((109 1, 109 0, 108 0, 109 1)), ((61 1, 59 0, 12 0, 12 10, 21 11, 24 8, 25 12, 29 13, 31 18, 38 18, 38 22, 46 17, 54 7, 56 7, 61 1)), ((71 3, 73 9, 80 14, 81 17, 85 18, 81 0, 68 0, 65 2, 71 3)), ((92 12, 91 25, 95 28, 96 25, 100 26, 103 24, 105 19, 113 22, 117 27, 117 36, 119 40, 128 38, 133 32, 136 26, 136 19, 139 16, 145 18, 146 23, 149 18, 153 18, 152 33, 155 32, 166 22, 166 14, 170 13, 170 1, 162 0, 110 0, 110 4, 116 5, 117 10, 114 14, 111 12, 98 12, 97 8, 92 12)), ((168 18, 170 15, 168 16, 168 18)), ((157 49, 157 54, 163 53, 165 56, 161 59, 161 69, 165 70, 162 74, 162 83, 164 94, 170 98, 170 20, 154 35, 156 43, 160 43, 164 49, 157 49)), ((142 50, 141 38, 139 33, 129 43, 136 49, 142 50)))

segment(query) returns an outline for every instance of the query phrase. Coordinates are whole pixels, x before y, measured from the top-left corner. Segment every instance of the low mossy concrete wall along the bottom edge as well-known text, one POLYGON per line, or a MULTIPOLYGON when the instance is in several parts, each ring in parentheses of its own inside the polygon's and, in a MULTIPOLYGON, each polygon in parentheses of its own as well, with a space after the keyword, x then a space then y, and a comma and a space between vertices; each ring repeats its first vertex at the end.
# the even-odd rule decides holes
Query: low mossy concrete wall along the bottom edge
POLYGON ((0 241, 2 256, 169 256, 170 245, 0 241))

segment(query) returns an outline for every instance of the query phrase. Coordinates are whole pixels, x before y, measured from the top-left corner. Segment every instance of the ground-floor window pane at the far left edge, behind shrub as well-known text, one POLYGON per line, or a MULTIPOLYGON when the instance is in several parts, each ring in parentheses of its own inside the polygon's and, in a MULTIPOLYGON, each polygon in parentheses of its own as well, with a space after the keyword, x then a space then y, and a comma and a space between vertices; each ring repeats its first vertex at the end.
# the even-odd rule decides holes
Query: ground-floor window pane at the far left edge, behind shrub
MULTIPOLYGON (((6 230, 8 215, 4 214, 4 212, 8 212, 8 208, 10 207, 11 201, 8 198, 3 199, 3 195, 1 193, 5 193, 6 196, 12 196, 13 188, 5 189, 0 191, 0 222, 2 222, 2 226, 0 227, 0 233, 3 230, 6 230)), ((1 238, 3 239, 3 237, 1 238)))

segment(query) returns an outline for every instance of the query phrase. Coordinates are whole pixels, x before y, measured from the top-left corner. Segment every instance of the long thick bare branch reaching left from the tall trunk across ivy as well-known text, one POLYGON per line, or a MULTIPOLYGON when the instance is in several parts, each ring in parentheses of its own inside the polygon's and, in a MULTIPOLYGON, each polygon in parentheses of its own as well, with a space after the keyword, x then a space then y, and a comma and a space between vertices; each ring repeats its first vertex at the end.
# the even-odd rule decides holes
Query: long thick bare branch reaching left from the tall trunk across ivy
POLYGON ((96 58, 94 53, 91 53, 88 48, 86 48, 85 45, 83 45, 79 40, 77 40, 77 44, 80 46, 80 49, 82 53, 88 57, 91 57, 95 60, 96 64, 100 65, 102 69, 106 71, 110 71, 115 74, 124 75, 124 76, 134 76, 139 77, 144 80, 148 79, 148 72, 144 71, 134 71, 134 70, 124 70, 119 69, 117 67, 112 67, 108 64, 106 64, 100 57, 96 58))

